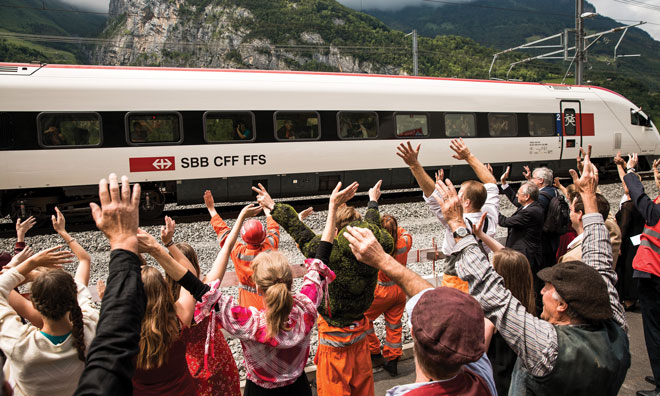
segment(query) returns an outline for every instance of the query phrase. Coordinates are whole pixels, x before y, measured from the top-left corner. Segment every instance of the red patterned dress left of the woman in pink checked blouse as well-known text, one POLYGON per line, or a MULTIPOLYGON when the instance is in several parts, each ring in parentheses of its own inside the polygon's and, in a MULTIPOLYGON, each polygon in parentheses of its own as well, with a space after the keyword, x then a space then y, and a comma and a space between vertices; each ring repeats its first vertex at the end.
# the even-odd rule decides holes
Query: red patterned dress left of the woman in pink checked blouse
POLYGON ((201 323, 183 330, 183 342, 186 344, 186 360, 188 370, 197 385, 199 396, 228 395, 240 396, 241 384, 234 356, 222 335, 220 323, 217 322, 213 339, 213 354, 207 357, 207 367, 204 368, 204 344, 210 317, 201 323))

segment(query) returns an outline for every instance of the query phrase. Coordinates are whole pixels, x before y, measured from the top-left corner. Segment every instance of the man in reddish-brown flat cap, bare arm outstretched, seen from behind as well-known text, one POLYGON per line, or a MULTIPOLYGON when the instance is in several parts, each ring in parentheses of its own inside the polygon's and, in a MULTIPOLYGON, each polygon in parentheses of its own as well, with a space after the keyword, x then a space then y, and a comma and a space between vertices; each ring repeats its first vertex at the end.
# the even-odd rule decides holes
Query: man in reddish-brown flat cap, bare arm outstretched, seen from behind
POLYGON ((457 289, 433 285, 399 265, 365 228, 344 233, 355 257, 383 271, 411 298, 406 303, 415 352, 416 381, 390 389, 387 396, 496 396, 486 356, 484 313, 457 289))

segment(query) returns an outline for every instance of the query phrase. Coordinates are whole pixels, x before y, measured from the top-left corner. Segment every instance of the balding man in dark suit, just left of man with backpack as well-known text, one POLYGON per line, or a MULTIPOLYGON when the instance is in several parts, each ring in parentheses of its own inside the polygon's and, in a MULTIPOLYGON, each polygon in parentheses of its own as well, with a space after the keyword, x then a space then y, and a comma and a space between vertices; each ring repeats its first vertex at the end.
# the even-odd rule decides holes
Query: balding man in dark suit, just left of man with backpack
MULTIPOLYGON (((503 178, 503 185, 506 179, 503 178)), ((509 229, 506 238, 506 247, 517 250, 524 254, 529 260, 529 265, 534 274, 534 292, 536 294, 537 313, 541 313, 543 307, 541 289, 544 282, 536 275, 543 268, 543 249, 541 234, 543 233, 543 222, 545 214, 543 207, 538 202, 539 188, 532 182, 524 182, 518 192, 512 188, 503 188, 507 197, 520 205, 516 212, 510 217, 500 213, 499 225, 509 229)))

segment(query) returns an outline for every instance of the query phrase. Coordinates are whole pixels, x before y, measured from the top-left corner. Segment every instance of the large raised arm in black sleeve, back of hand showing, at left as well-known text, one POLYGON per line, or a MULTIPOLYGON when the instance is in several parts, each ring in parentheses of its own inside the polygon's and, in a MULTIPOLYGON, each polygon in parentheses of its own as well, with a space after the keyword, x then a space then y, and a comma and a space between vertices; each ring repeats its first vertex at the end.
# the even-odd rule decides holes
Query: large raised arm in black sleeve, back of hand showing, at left
POLYGON ((96 337, 87 353, 85 370, 75 395, 130 395, 135 356, 140 347, 140 324, 147 297, 137 257, 140 185, 133 187, 122 177, 121 193, 117 175, 110 175, 110 188, 99 183, 101 207, 92 203, 96 226, 110 241, 108 285, 96 337))

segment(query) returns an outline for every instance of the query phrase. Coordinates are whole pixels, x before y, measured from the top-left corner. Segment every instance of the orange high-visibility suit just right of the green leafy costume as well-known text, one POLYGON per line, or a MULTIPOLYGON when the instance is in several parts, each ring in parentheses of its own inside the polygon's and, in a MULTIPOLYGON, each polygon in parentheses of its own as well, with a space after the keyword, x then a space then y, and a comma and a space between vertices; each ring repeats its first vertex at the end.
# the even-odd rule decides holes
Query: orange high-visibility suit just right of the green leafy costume
MULTIPOLYGON (((402 227, 397 229, 398 239, 394 244, 394 253, 392 254, 396 261, 404 267, 408 262, 408 252, 412 247, 412 236, 402 227)), ((383 357, 392 360, 403 354, 401 349, 401 317, 406 307, 406 293, 387 277, 382 271, 378 272, 378 285, 374 292, 374 302, 364 316, 369 320, 369 329, 371 330, 367 338, 369 340, 369 350, 372 355, 380 353, 380 340, 373 331, 373 321, 381 314, 385 314, 385 342, 383 345, 383 357)))

